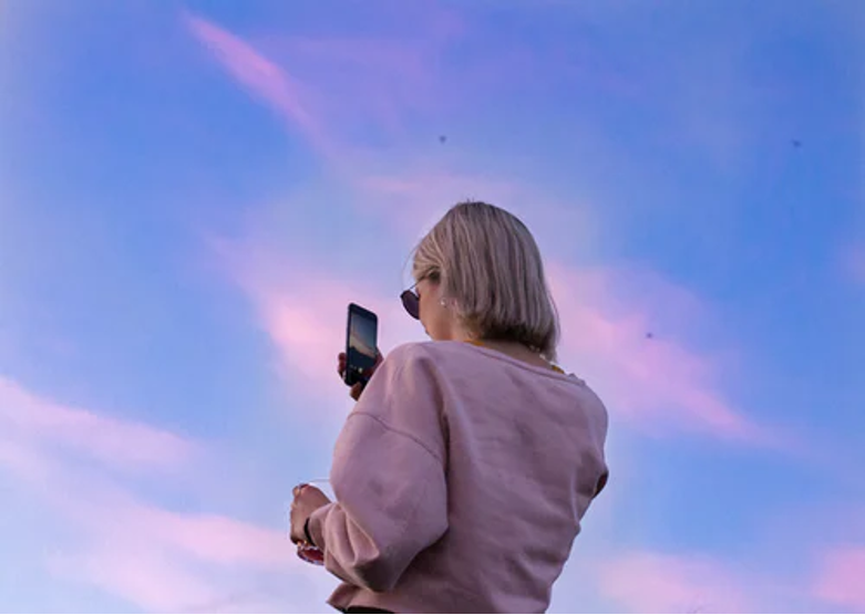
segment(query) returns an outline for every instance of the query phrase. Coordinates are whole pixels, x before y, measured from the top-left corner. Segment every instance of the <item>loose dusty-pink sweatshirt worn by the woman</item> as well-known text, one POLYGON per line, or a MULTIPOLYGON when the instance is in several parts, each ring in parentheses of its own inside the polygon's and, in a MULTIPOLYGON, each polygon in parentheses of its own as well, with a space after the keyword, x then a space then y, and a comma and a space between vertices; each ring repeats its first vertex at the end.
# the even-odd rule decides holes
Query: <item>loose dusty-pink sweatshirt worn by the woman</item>
POLYGON ((337 442, 309 530, 330 604, 543 613, 606 482, 607 411, 576 376, 461 342, 406 344, 337 442))

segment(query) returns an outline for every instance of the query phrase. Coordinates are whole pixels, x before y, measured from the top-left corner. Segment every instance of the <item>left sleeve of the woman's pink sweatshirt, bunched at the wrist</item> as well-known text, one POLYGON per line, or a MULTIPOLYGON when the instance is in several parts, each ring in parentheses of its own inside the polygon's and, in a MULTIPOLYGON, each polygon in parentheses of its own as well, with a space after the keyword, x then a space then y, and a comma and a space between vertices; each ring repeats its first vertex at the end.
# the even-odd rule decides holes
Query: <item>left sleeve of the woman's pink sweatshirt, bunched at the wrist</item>
POLYGON ((447 530, 443 389, 421 344, 394 350, 337 440, 337 501, 309 522, 327 569, 352 585, 392 590, 447 530))

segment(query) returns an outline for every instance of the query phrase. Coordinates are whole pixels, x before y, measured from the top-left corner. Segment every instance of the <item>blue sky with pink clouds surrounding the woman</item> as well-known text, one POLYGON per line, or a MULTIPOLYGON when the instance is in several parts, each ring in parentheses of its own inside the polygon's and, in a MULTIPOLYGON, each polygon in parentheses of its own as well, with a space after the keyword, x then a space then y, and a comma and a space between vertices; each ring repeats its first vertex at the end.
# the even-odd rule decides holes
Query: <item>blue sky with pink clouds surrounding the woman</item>
POLYGON ((348 303, 474 198, 611 418, 552 611, 865 611, 864 139, 858 0, 0 0, 0 609, 330 612, 348 303))

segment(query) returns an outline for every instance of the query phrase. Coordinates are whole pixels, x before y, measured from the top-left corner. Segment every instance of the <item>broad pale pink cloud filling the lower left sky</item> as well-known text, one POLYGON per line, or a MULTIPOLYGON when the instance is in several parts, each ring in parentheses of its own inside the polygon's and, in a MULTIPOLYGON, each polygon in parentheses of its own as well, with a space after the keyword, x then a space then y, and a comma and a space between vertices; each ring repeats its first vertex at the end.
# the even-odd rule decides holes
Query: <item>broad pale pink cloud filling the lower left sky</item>
MULTIPOLYGON (((51 574, 156 612, 285 612, 300 587, 323 604, 332 584, 295 556, 284 529, 166 508, 153 483, 137 482, 154 477, 166 487, 169 470, 167 482, 181 481, 190 501, 206 501, 188 491, 196 490, 193 461, 215 455, 205 445, 69 408, 10 378, 0 381, 0 472, 71 530, 70 542, 47 554, 51 574), (119 469, 134 473, 119 478, 119 469)), ((32 529, 22 519, 19 530, 32 529)))

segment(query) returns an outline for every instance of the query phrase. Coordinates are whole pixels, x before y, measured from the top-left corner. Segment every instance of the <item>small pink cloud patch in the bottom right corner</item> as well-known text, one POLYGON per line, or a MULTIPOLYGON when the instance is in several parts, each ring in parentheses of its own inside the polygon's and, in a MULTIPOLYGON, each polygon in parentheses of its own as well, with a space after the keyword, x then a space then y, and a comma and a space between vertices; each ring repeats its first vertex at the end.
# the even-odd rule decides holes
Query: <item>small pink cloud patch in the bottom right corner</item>
POLYGON ((865 544, 825 553, 813 593, 826 602, 859 613, 865 611, 865 544))

